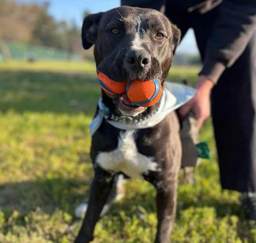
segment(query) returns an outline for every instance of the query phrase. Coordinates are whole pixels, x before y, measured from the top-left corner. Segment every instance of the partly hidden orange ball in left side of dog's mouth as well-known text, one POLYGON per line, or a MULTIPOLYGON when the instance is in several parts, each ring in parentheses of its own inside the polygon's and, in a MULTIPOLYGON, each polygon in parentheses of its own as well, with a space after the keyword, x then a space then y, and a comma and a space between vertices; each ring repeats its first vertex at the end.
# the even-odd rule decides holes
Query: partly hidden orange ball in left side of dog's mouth
POLYGON ((102 89, 112 95, 120 95, 125 93, 126 82, 116 82, 107 75, 99 72, 100 86, 102 89))

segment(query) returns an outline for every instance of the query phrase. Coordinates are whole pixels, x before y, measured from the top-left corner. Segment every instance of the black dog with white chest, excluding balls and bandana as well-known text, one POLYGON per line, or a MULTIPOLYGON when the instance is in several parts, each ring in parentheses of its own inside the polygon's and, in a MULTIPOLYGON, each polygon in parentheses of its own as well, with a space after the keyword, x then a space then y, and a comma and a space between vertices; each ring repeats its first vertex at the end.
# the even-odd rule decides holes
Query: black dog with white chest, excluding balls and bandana
MULTIPOLYGON (((119 82, 159 78, 163 85, 179 39, 180 31, 162 13, 150 9, 123 6, 89 15, 82 26, 84 49, 95 44, 97 72, 119 82)), ((137 120, 150 117, 160 103, 148 108, 138 107, 126 94, 111 96, 103 91, 102 102, 113 119, 129 117, 137 120)), ((96 115, 98 112, 99 107, 96 115)), ((92 136, 95 175, 88 209, 75 243, 92 241, 95 224, 116 173, 144 178, 155 186, 158 218, 155 242, 170 242, 182 155, 179 131, 175 112, 156 126, 138 130, 121 130, 103 119, 92 136)))

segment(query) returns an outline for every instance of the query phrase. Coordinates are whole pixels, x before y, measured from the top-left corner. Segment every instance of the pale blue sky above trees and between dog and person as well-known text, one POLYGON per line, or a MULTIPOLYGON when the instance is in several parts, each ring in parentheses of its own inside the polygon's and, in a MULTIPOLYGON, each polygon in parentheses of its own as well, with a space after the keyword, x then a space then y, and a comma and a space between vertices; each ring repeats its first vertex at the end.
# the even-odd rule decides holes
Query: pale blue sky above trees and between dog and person
MULTIPOLYGON (((17 2, 37 2, 43 3, 45 0, 16 0, 17 2)), ((91 13, 106 11, 118 7, 120 0, 49 0, 50 13, 56 19, 75 20, 82 26, 82 16, 84 10, 89 10, 91 13)), ((198 50, 195 43, 193 30, 189 30, 184 37, 177 52, 188 54, 197 54, 198 50)))

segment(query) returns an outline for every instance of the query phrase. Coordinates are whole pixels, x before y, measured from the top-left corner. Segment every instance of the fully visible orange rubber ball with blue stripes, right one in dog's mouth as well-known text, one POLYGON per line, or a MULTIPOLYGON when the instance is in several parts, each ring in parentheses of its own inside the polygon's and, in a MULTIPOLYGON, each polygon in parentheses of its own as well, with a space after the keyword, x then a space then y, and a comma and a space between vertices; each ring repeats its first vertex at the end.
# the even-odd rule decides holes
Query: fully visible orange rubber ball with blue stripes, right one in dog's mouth
POLYGON ((158 79, 142 81, 136 79, 126 86, 128 98, 140 107, 153 106, 162 95, 162 86, 158 79))

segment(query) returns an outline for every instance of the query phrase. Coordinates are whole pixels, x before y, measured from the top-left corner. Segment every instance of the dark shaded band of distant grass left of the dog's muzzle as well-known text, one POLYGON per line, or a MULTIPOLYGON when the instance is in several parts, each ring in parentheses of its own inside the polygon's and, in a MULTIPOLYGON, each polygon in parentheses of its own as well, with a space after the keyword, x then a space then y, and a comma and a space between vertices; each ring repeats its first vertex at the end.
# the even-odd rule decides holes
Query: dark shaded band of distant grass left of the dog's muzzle
POLYGON ((0 111, 93 115, 100 95, 92 74, 1 71, 0 111))

